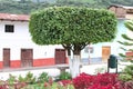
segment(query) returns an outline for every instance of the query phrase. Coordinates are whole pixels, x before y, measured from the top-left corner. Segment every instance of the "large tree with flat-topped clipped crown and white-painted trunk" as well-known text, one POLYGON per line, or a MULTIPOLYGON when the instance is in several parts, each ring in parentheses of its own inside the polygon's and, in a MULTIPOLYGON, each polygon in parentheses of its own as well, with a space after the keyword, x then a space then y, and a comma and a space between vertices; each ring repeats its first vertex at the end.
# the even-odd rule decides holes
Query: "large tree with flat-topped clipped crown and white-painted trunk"
POLYGON ((115 38, 116 18, 108 10, 75 7, 51 7, 30 17, 30 33, 38 44, 62 44, 70 59, 72 77, 80 73, 81 50, 90 44, 115 38))

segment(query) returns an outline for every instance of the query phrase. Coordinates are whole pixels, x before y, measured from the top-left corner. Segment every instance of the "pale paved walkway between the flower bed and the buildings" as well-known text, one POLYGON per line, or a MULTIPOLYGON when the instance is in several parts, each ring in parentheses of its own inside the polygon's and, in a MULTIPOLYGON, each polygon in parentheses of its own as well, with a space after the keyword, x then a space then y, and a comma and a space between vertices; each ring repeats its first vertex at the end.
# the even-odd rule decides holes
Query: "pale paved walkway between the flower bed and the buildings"
MULTIPOLYGON (((117 70, 119 72, 122 71, 122 69, 126 66, 130 65, 129 62, 121 62, 117 66, 117 70)), ((64 66, 64 65, 63 65, 64 66)), ((21 76, 25 76, 27 72, 32 72, 33 76, 38 77, 41 72, 48 72, 49 76, 51 77, 57 77, 60 75, 60 70, 58 69, 58 67, 61 67, 59 65, 57 66, 51 66, 51 67, 37 67, 37 68, 27 68, 27 69, 4 69, 0 71, 0 79, 2 80, 7 80, 9 78, 9 75, 13 75, 16 77, 19 77, 19 75, 21 76)), ((68 65, 65 65, 65 67, 68 67, 68 65)), ((108 71, 108 63, 94 63, 94 65, 83 65, 82 68, 80 69, 81 72, 85 72, 89 75, 94 75, 96 72, 105 72, 108 71)), ((66 71, 69 71, 69 69, 66 69, 66 71)), ((115 69, 110 69, 110 72, 115 72, 115 69)))

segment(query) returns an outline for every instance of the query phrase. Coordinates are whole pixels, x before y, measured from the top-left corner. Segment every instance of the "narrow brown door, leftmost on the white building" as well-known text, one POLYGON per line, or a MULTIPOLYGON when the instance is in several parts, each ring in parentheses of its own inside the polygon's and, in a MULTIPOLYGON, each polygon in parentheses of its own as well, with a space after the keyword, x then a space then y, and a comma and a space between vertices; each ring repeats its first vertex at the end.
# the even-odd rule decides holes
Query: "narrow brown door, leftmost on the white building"
POLYGON ((4 48, 3 49, 3 68, 10 67, 10 49, 4 48))

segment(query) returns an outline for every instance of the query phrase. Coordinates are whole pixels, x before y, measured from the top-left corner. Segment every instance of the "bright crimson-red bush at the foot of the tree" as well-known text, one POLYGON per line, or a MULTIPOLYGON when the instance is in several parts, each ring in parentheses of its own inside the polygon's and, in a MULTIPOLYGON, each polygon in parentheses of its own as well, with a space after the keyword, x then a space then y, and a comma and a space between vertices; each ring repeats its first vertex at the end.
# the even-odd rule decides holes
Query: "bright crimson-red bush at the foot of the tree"
POLYGON ((81 73, 73 79, 73 86, 75 89, 120 89, 117 81, 116 73, 105 72, 96 76, 81 73))

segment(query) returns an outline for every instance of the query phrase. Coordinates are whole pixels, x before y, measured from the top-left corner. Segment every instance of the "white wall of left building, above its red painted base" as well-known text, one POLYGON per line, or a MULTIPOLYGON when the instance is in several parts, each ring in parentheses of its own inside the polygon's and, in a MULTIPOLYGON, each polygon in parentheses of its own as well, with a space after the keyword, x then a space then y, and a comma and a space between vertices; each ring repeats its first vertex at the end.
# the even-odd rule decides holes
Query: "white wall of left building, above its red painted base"
POLYGON ((10 48, 11 60, 20 59, 21 49, 33 49, 33 59, 53 58, 54 49, 62 46, 38 46, 29 33, 28 22, 0 21, 0 61, 2 60, 3 48, 10 48), (4 32, 4 24, 13 24, 14 32, 4 32))

